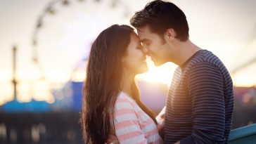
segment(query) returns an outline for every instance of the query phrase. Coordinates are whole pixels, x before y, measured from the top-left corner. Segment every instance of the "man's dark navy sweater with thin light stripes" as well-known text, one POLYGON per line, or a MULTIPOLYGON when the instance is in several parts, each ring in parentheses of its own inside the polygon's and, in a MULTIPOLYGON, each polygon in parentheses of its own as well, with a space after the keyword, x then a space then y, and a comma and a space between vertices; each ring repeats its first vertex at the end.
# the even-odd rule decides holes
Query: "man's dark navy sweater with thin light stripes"
POLYGON ((216 55, 200 50, 177 67, 167 96, 165 143, 227 143, 233 83, 216 55))

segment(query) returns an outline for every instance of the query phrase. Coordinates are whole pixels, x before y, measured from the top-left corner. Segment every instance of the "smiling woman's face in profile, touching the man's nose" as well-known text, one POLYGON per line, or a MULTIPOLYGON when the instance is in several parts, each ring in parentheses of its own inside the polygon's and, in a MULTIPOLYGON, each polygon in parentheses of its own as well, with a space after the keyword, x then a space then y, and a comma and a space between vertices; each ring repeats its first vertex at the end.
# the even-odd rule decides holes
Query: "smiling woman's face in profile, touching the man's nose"
POLYGON ((141 74, 148 71, 146 53, 143 53, 143 47, 135 32, 131 34, 131 40, 122 57, 122 63, 124 70, 132 72, 133 74, 141 74))

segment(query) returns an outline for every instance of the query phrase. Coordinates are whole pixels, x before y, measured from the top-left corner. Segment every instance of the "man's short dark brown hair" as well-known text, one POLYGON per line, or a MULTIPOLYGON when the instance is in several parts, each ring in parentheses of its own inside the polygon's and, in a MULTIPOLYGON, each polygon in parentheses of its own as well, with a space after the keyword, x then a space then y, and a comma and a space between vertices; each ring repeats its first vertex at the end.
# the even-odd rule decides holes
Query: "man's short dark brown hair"
POLYGON ((152 32, 161 36, 167 29, 172 28, 180 41, 186 41, 189 37, 186 15, 169 1, 151 1, 141 11, 135 13, 130 23, 136 28, 148 25, 152 32))

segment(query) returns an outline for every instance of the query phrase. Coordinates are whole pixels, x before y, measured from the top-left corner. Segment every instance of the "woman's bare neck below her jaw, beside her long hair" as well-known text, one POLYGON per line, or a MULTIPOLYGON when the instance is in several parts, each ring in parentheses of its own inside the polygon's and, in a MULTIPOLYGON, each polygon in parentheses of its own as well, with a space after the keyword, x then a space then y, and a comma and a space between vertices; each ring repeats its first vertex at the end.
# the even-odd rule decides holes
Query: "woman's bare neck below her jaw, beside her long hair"
POLYGON ((131 74, 130 72, 124 72, 121 83, 121 90, 124 93, 132 96, 132 83, 134 82, 135 74, 131 74))

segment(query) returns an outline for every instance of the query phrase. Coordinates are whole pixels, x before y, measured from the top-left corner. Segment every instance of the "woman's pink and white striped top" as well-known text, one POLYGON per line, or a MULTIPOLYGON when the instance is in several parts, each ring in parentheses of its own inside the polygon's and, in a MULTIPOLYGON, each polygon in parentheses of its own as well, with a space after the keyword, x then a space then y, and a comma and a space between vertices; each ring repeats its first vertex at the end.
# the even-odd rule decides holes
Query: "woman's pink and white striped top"
POLYGON ((160 143, 158 128, 135 100, 120 92, 115 102, 113 119, 110 119, 108 143, 160 143))

